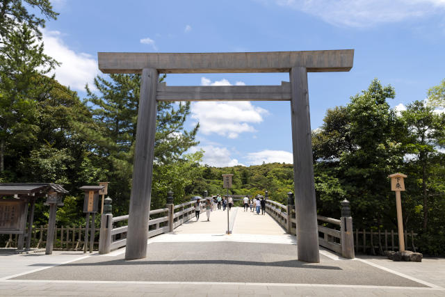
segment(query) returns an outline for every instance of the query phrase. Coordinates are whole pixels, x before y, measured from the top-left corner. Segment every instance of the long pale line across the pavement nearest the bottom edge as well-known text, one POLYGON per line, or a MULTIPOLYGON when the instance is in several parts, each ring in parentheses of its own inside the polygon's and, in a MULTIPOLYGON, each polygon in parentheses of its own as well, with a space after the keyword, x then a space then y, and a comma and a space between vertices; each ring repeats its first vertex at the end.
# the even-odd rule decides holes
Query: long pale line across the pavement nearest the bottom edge
POLYGON ((426 290, 444 291, 442 287, 391 287, 375 286, 367 284, 291 284, 291 283, 268 283, 268 282, 144 282, 144 281, 119 281, 119 280, 0 280, 1 282, 26 282, 26 283, 59 283, 59 284, 184 284, 184 285, 238 285, 238 286, 270 286, 270 287, 325 287, 325 288, 356 288, 356 289, 394 289, 394 290, 426 290))

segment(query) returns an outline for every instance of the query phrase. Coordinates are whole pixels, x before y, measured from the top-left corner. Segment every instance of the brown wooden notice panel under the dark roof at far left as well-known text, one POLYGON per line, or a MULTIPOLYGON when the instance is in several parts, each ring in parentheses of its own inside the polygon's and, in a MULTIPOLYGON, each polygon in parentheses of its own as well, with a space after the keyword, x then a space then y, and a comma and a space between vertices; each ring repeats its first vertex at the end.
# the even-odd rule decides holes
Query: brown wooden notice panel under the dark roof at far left
POLYGON ((26 201, 0 200, 0 234, 22 234, 26 201))

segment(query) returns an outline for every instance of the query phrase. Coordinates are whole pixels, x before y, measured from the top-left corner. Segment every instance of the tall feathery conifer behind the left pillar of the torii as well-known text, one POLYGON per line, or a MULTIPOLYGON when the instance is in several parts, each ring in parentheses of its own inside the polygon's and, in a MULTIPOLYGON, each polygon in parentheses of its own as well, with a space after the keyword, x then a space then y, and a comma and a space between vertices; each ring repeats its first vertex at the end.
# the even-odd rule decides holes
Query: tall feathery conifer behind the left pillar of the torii
MULTIPOLYGON (((165 77, 165 76, 164 76, 165 77)), ((164 79, 161 77, 161 81, 164 79)), ((104 157, 108 170, 110 188, 116 195, 113 205, 124 212, 128 209, 131 187, 134 145, 136 141, 136 124, 140 97, 140 75, 111 74, 108 78, 97 77, 93 93, 87 86, 87 100, 92 105, 90 111, 99 129, 95 135, 88 136, 97 141, 97 154, 104 157)), ((152 204, 162 204, 165 200, 165 186, 156 177, 165 177, 165 172, 181 172, 191 168, 188 161, 196 161, 200 154, 184 156, 190 147, 196 145, 195 135, 199 125, 191 131, 184 129, 184 122, 190 114, 190 102, 174 104, 158 102, 156 112, 156 138, 154 148, 154 181, 152 204), (172 168, 172 166, 179 168, 172 168), (182 168, 182 169, 181 169, 182 168), (167 170, 167 171, 165 171, 167 170), (156 186, 160 188, 156 189, 156 186)), ((176 176, 177 177, 177 176, 176 176)), ((178 177, 179 178, 179 177, 178 177)), ((171 179, 169 186, 174 187, 171 179)), ((184 182, 185 186, 187 183, 184 182)), ((175 196, 183 195, 181 191, 175 196)))

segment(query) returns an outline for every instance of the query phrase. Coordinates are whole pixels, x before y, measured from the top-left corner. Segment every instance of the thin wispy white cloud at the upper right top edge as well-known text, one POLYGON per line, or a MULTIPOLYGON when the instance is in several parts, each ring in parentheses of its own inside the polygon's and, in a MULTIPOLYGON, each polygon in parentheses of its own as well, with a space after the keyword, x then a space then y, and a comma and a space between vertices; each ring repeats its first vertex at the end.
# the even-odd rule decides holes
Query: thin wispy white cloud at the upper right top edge
POLYGON ((371 27, 445 10, 444 0, 274 0, 335 26, 371 27))

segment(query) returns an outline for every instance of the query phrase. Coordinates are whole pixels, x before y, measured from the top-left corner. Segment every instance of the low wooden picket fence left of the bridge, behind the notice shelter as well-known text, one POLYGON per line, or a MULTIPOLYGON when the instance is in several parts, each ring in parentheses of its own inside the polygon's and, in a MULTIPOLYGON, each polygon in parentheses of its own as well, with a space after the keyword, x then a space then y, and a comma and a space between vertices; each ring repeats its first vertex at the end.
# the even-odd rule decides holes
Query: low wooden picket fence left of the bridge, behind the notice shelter
MULTIPOLYGON (((47 243, 47 226, 33 226, 31 248, 45 248, 47 243)), ((17 248, 17 234, 9 234, 5 248, 17 248)), ((83 250, 85 227, 60 226, 54 229, 54 250, 83 250)), ((95 246, 99 245, 99 230, 95 232, 95 246), (97 241, 96 241, 97 239, 97 241)))

